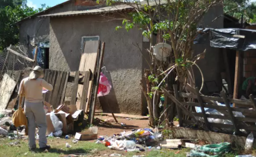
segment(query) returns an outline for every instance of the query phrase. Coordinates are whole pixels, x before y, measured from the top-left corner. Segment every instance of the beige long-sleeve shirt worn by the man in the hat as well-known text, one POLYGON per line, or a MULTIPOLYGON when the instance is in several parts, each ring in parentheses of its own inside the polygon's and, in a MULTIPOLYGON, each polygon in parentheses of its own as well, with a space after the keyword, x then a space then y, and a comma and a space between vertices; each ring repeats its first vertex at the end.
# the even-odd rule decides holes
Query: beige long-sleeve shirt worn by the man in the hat
POLYGON ((29 80, 29 77, 26 77, 20 82, 19 95, 22 91, 23 82, 23 94, 25 95, 25 101, 28 102, 43 102, 43 88, 49 91, 53 90, 53 86, 47 83, 42 78, 37 78, 36 80, 29 80))

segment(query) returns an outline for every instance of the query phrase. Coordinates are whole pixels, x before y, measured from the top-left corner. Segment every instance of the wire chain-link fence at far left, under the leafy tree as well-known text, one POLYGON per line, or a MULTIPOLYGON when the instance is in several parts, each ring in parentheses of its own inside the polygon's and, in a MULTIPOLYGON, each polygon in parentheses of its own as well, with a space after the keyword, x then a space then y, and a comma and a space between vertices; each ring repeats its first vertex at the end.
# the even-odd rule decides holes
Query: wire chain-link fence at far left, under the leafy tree
POLYGON ((24 46, 10 45, 9 48, 0 52, 0 80, 5 73, 11 76, 15 71, 30 69, 33 62, 28 59, 30 59, 28 49, 24 46), (25 59, 26 57, 27 59, 25 59))

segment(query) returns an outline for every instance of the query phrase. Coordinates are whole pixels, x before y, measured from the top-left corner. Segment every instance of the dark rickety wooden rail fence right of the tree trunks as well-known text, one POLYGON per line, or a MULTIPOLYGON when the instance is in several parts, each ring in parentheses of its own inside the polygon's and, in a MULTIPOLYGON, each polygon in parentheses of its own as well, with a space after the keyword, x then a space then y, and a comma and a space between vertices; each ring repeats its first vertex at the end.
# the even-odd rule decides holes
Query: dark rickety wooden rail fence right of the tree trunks
POLYGON ((162 88, 162 91, 166 93, 167 96, 170 97, 172 101, 174 101, 177 105, 177 115, 179 118, 179 125, 181 127, 187 124, 200 124, 202 122, 197 120, 196 117, 202 117, 203 128, 207 131, 211 131, 213 127, 234 129, 237 135, 241 134, 240 129, 245 129, 247 131, 256 131, 256 100, 254 99, 253 95, 250 95, 250 100, 235 100, 227 98, 224 91, 221 92, 221 97, 212 97, 200 95, 197 88, 194 89, 189 85, 187 85, 186 88, 191 93, 178 92, 177 86, 174 85, 174 96, 171 95, 167 90, 162 88), (189 98, 194 99, 195 102, 185 101, 189 98), (223 102, 225 106, 217 105, 216 101, 223 102), (231 103, 236 104, 236 106, 240 106, 240 108, 231 107, 231 103), (200 107, 202 113, 197 113, 194 109, 193 111, 188 110, 188 108, 190 107, 200 107), (223 115, 206 114, 204 108, 216 109, 223 115), (232 111, 241 112, 245 117, 235 117, 232 111), (187 115, 190 118, 185 119, 184 115, 187 115), (227 119, 230 120, 232 124, 210 123, 207 118, 227 119))

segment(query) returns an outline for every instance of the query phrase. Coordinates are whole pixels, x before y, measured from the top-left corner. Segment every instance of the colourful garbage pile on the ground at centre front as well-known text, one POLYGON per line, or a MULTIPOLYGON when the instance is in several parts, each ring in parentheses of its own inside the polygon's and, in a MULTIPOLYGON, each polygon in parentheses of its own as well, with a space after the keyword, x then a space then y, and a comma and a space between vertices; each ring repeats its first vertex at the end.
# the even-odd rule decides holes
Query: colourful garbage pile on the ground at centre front
POLYGON ((133 129, 132 131, 114 134, 112 137, 99 136, 96 143, 102 143, 114 150, 127 152, 146 150, 160 150, 163 137, 161 133, 153 132, 150 128, 133 129))

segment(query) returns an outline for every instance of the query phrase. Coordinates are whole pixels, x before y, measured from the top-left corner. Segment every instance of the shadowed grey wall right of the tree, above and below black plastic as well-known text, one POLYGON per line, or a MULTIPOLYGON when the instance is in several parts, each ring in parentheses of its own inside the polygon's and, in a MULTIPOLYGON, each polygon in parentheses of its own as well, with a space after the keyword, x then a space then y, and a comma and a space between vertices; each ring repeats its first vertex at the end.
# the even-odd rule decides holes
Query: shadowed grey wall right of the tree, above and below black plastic
MULTIPOLYGON (((222 6, 215 6, 211 8, 202 19, 202 28, 222 29, 224 19, 221 15, 223 15, 222 6)), ((193 46, 193 50, 194 56, 206 50, 205 58, 197 61, 198 66, 202 70, 204 82, 206 82, 208 85, 206 86, 206 84, 204 84, 202 93, 207 95, 213 92, 211 90, 222 90, 221 72, 222 67, 224 66, 222 61, 222 49, 213 48, 207 45, 195 44, 193 46), (216 84, 212 81, 215 81, 216 84)), ((197 67, 194 67, 193 69, 196 86, 200 89, 202 85, 202 76, 197 67)))

